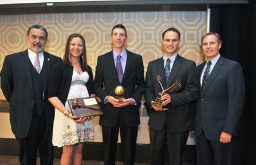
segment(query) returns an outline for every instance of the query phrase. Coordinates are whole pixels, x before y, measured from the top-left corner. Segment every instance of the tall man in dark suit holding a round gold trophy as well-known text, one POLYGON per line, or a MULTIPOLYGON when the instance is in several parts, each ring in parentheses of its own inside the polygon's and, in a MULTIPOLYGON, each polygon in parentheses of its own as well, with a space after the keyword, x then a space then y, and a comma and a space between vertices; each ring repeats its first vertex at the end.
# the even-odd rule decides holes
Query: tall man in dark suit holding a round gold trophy
POLYGON ((142 56, 125 49, 126 28, 122 24, 113 27, 113 50, 98 57, 94 83, 96 95, 104 102, 100 117, 106 165, 115 164, 115 149, 120 135, 124 164, 134 164, 138 132, 138 103, 145 90, 142 56), (125 100, 115 99, 115 87, 125 88, 125 100))

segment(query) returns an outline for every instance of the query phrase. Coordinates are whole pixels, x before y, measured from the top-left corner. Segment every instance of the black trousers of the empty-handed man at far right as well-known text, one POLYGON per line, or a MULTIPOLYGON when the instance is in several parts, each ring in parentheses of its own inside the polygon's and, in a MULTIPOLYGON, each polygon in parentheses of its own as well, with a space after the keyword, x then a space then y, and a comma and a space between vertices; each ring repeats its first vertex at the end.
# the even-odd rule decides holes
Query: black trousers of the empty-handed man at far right
POLYGON ((241 151, 240 140, 235 136, 230 143, 210 141, 203 131, 196 137, 197 165, 241 165, 241 151))

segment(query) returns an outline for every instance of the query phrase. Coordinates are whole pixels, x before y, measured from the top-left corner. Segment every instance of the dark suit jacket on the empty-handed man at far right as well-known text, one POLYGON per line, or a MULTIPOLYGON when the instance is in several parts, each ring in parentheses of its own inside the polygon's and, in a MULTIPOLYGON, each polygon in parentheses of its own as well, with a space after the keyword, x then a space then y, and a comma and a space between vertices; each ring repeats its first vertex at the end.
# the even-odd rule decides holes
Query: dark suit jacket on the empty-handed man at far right
MULTIPOLYGON (((199 84, 204 66, 205 62, 196 67, 199 84)), ((196 136, 200 136, 202 128, 212 141, 219 141, 221 132, 236 136, 244 99, 241 65, 220 57, 209 75, 204 93, 196 101, 196 136)))

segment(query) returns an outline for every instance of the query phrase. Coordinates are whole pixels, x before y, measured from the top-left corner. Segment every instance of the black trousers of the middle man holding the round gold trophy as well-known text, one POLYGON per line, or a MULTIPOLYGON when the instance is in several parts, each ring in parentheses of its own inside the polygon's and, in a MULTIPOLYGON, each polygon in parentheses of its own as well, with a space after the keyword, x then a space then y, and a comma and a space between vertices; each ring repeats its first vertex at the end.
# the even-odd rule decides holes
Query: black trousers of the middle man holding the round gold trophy
POLYGON ((102 126, 104 164, 115 164, 115 150, 117 148, 119 128, 123 152, 123 164, 133 165, 135 159, 138 126, 126 126, 122 120, 121 114, 119 114, 117 124, 113 128, 102 126))

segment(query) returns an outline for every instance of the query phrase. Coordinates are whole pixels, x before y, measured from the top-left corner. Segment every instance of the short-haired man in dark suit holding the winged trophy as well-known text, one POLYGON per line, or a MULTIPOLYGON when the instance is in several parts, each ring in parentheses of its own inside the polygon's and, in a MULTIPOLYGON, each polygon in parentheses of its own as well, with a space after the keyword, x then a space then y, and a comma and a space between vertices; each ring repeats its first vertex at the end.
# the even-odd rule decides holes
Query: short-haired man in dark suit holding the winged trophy
POLYGON ((151 61, 146 73, 145 99, 150 109, 151 164, 164 164, 164 150, 168 143, 169 164, 181 164, 189 130, 192 128, 191 102, 196 100, 199 86, 196 80, 195 62, 177 54, 180 32, 169 28, 163 32, 164 56, 151 61), (176 81, 181 82, 178 91, 162 94, 176 81), (156 97, 161 98, 164 108, 154 105, 156 97))

